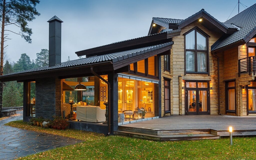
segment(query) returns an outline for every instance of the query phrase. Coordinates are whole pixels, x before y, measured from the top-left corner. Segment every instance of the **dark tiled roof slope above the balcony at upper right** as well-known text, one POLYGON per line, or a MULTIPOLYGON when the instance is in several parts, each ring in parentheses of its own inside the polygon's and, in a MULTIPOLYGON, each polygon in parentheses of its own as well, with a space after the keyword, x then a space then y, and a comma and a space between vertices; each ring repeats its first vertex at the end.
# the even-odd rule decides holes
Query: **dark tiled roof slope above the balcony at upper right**
POLYGON ((256 30, 256 4, 227 20, 225 23, 234 24, 241 28, 229 37, 222 40, 216 46, 216 48, 214 48, 214 50, 225 47, 240 40, 244 41, 249 35, 251 35, 254 30, 256 30))

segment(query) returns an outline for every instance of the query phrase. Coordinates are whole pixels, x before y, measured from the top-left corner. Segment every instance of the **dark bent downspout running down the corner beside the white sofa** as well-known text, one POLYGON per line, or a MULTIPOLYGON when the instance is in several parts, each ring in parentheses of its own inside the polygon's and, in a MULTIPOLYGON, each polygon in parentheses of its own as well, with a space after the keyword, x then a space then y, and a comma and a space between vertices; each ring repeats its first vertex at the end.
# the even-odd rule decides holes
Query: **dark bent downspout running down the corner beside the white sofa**
POLYGON ((110 94, 110 83, 108 81, 106 81, 103 77, 101 77, 100 75, 98 75, 97 73, 95 73, 93 71, 93 65, 91 65, 91 72, 95 76, 99 77, 106 84, 108 84, 108 134, 107 135, 110 135, 110 132, 111 132, 111 125, 110 125, 110 95, 111 95, 110 94))

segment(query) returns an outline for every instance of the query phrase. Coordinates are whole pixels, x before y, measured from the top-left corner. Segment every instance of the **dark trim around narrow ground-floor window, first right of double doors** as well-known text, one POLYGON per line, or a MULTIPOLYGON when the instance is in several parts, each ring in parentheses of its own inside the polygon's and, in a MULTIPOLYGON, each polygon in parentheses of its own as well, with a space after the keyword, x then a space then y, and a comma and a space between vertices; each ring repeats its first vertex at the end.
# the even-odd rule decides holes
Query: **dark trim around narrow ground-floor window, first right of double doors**
POLYGON ((225 81, 225 107, 226 107, 226 113, 235 113, 237 114, 237 95, 236 95, 236 80, 226 80, 225 81), (228 87, 229 82, 235 82, 234 87, 228 87), (228 109, 228 89, 235 89, 235 110, 229 110, 228 109))

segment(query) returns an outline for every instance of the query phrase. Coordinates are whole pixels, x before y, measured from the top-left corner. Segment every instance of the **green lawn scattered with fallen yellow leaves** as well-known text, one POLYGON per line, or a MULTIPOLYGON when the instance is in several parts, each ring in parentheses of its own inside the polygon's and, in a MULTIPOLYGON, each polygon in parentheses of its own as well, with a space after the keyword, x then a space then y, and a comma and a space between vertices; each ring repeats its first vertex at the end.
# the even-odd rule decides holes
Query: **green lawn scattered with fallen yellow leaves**
POLYGON ((66 136, 84 142, 23 157, 21 159, 256 159, 256 137, 234 137, 217 140, 151 141, 145 139, 104 136, 79 130, 54 130, 12 121, 6 125, 66 136))

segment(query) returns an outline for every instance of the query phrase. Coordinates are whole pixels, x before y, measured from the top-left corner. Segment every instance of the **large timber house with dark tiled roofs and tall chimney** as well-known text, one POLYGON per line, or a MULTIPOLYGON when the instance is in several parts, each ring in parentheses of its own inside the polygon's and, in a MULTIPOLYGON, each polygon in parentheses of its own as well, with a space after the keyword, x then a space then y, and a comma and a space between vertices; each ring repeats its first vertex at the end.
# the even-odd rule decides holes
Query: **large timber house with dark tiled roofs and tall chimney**
POLYGON ((204 9, 184 20, 153 17, 147 36, 77 51, 86 58, 67 62, 63 21, 48 22, 49 66, 0 76, 23 82, 24 121, 63 116, 70 128, 112 134, 169 115, 256 113, 256 4, 226 22, 204 9))

